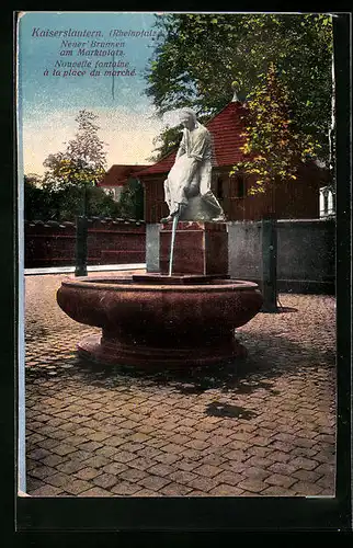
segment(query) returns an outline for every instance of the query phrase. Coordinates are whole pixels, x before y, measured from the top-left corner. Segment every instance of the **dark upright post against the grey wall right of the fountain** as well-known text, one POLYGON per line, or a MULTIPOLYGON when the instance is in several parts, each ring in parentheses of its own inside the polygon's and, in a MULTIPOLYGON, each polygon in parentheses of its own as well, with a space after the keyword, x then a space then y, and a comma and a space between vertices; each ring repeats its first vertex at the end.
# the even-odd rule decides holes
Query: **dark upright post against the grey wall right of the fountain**
POLYGON ((277 222, 262 219, 262 296, 263 312, 277 312, 277 222))

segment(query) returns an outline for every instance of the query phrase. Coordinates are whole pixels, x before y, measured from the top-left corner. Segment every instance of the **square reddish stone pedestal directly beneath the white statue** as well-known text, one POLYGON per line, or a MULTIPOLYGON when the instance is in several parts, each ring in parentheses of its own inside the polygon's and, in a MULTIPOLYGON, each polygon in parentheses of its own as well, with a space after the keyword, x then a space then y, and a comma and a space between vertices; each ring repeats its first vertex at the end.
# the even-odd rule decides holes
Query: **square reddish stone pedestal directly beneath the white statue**
MULTIPOLYGON (((160 228, 160 273, 167 274, 172 224, 160 228)), ((173 274, 228 274, 226 222, 180 221, 175 233, 173 274)))

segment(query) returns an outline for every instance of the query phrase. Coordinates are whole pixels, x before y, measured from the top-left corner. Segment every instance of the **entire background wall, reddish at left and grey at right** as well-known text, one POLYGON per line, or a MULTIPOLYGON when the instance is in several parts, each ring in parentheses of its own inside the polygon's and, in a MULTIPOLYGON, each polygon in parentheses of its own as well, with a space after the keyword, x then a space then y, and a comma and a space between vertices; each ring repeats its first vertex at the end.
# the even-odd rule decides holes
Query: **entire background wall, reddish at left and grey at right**
MULTIPOLYGON (((73 222, 25 222, 24 239, 26 269, 75 264, 73 222)), ((261 221, 228 222, 228 241, 231 277, 261 283, 261 221)), ((333 294, 334 251, 334 219, 278 220, 278 290, 333 294)), ((159 271, 159 225, 89 219, 88 264, 144 262, 148 272, 159 271)))

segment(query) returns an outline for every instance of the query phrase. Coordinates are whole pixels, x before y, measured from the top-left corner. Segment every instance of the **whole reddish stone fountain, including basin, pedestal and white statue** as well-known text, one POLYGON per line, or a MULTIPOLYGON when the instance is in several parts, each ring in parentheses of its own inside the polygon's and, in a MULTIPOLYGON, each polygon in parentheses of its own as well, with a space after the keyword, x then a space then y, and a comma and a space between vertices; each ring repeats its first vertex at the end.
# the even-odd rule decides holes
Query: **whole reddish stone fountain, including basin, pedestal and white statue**
MULTIPOLYGON (((187 116, 186 125, 196 124, 187 116)), ((208 138, 198 123, 190 127, 190 133, 196 129, 208 138)), ((195 161, 187 156, 183 163, 189 160, 191 164, 195 161)), ((176 162, 178 156, 174 167, 176 162)), ((197 164, 198 172, 204 168, 201 176, 210 178, 208 158, 197 164)), ((190 173, 189 183, 193 183, 195 171, 190 173)), ((176 199, 176 207, 169 199, 171 215, 160 226, 159 273, 62 281, 57 292, 60 308, 73 320, 102 329, 102 335, 78 343, 81 356, 104 364, 183 367, 246 355, 235 329, 260 311, 261 293, 257 284, 228 275, 227 225, 209 181, 205 185, 198 176, 198 193, 194 193, 187 192, 185 171, 179 179, 183 196, 176 199), (217 218, 213 219, 215 210, 217 218)), ((169 192, 173 191, 172 180, 169 192)))

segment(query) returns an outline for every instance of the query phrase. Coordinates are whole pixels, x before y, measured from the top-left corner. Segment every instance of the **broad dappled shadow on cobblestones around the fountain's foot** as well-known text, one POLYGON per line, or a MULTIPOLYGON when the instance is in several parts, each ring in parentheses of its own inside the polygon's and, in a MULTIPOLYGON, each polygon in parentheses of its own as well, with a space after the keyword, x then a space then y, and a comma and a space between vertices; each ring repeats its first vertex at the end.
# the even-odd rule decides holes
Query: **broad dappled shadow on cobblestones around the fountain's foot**
MULTIPOLYGON (((276 396, 280 392, 273 389, 272 381, 282 374, 299 375, 303 370, 316 372, 318 367, 335 366, 333 352, 308 349, 281 336, 238 334, 238 340, 248 349, 248 356, 217 366, 182 370, 160 366, 148 369, 106 366, 82 359, 72 352, 66 358, 52 359, 47 366, 26 367, 26 378, 31 381, 37 378, 62 380, 62 377, 75 377, 88 385, 112 389, 127 384, 169 386, 183 395, 201 395, 212 389, 250 395, 258 389, 265 389, 269 395, 276 396)), ((216 408, 214 412, 217 412, 216 408)))

